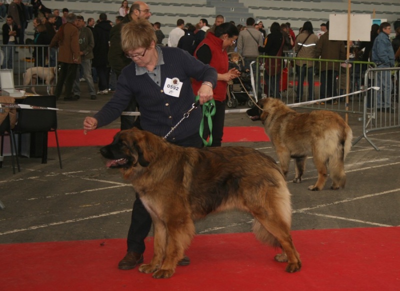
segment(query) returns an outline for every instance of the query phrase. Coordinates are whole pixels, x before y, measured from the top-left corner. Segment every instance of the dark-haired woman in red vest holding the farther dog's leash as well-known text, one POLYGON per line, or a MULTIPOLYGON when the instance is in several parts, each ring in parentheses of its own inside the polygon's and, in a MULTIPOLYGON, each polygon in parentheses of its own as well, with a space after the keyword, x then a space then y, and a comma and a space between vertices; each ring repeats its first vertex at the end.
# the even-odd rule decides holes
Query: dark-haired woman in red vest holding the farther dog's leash
MULTIPOLYGON (((215 115, 212 117, 212 144, 221 146, 223 123, 225 119, 225 99, 228 81, 240 76, 236 69, 228 70, 226 49, 235 44, 239 32, 231 23, 223 23, 215 28, 214 33, 207 33, 205 39, 198 45, 194 57, 216 69, 218 73, 216 87, 213 89, 215 100, 215 115)), ((193 92, 197 92, 202 82, 193 80, 193 92)), ((207 119, 204 119, 203 139, 210 135, 207 119)))

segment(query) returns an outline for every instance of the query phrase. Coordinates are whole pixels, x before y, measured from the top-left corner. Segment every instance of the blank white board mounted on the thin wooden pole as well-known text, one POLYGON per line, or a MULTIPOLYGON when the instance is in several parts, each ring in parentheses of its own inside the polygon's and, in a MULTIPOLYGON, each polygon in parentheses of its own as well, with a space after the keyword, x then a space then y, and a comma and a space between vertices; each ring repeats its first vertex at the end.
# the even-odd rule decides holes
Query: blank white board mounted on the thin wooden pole
MULTIPOLYGON (((350 15, 350 41, 370 41, 371 16, 369 14, 350 15)), ((329 15, 329 41, 347 40, 347 14, 329 15)))

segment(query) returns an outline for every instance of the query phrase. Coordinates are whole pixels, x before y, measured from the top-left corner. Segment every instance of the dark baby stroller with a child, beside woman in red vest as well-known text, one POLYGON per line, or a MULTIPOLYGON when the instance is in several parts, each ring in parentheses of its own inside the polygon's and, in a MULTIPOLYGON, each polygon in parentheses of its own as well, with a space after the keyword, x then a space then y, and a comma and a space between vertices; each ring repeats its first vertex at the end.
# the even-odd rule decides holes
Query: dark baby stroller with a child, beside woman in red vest
MULTIPOLYGON (((231 53, 228 53, 230 55, 231 53)), ((244 60, 239 55, 239 63, 241 68, 244 68, 244 60)), ((248 72, 241 72, 239 78, 235 78, 228 83, 226 105, 228 108, 235 108, 238 105, 247 104, 248 107, 253 107, 254 102, 249 98, 254 96, 251 85, 251 76, 248 72)))

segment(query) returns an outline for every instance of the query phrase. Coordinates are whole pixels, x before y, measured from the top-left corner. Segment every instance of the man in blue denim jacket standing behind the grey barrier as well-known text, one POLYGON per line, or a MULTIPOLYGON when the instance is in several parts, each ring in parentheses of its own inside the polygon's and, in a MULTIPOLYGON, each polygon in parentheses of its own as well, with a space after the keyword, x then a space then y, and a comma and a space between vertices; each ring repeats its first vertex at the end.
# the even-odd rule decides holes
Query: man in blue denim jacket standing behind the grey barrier
MULTIPOLYGON (((377 68, 393 68, 394 67, 394 51, 390 42, 390 24, 382 22, 379 26, 379 34, 373 42, 372 46, 372 62, 376 64, 377 68)), ((378 111, 394 112, 390 108, 390 94, 391 94, 391 76, 390 71, 376 72, 376 86, 380 90, 376 92, 376 108, 378 111)))

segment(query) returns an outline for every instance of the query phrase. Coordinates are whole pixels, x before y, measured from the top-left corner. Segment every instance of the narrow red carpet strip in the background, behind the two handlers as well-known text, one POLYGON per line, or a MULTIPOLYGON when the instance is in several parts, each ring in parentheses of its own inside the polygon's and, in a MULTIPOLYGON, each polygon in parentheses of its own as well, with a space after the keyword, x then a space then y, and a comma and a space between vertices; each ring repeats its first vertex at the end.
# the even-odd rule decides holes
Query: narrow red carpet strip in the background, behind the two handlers
MULTIPOLYGON (((119 129, 97 129, 83 134, 83 130, 57 130, 58 141, 61 147, 98 146, 111 143, 113 136, 119 129)), ((225 127, 223 142, 255 142, 269 141, 264 129, 257 126, 225 127)), ((48 135, 48 146, 55 147, 54 133, 48 135)))

